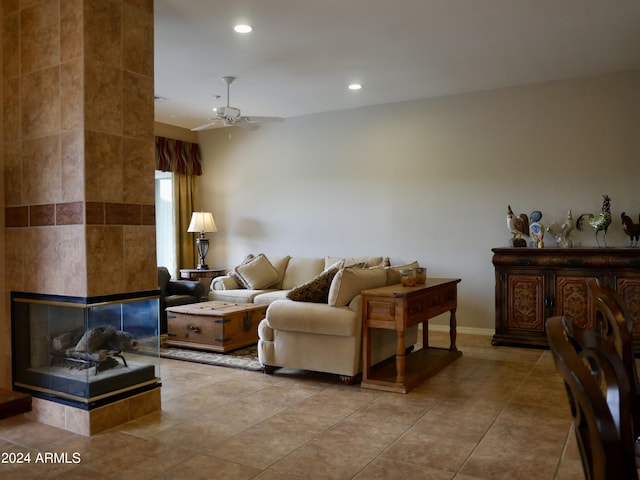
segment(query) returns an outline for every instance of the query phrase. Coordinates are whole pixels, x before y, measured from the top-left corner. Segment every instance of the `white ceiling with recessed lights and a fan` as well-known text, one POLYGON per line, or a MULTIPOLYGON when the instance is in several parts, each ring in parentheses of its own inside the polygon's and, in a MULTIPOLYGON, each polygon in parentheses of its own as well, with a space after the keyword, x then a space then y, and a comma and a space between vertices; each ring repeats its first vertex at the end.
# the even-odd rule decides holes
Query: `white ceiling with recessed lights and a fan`
POLYGON ((287 118, 629 70, 640 0, 155 0, 155 118, 184 128, 223 76, 243 115, 287 118))

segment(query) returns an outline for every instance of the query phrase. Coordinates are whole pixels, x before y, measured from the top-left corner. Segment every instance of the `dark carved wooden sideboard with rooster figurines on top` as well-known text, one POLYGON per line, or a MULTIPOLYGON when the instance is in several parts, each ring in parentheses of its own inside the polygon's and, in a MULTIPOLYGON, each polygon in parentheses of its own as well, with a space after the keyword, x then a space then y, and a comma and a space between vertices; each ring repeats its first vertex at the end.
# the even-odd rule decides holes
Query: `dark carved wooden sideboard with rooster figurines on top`
POLYGON ((586 281, 597 278, 618 291, 633 315, 640 348, 640 248, 494 248, 494 345, 547 346, 545 321, 564 315, 594 326, 586 281))

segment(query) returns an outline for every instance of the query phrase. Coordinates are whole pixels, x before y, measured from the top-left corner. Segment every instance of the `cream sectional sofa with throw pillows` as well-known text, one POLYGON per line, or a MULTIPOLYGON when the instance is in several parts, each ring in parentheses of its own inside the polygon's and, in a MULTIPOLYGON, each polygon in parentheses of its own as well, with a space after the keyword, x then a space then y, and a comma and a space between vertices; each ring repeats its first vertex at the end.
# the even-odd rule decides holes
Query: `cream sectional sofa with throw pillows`
MULTIPOLYGON (((258 325, 258 358, 265 373, 277 368, 333 373, 346 383, 362 372, 362 290, 399 282, 384 257, 249 255, 211 284, 210 300, 268 304, 258 325)), ((373 362, 396 353, 395 331, 374 330, 373 362)), ((406 345, 414 345, 417 328, 406 345)))

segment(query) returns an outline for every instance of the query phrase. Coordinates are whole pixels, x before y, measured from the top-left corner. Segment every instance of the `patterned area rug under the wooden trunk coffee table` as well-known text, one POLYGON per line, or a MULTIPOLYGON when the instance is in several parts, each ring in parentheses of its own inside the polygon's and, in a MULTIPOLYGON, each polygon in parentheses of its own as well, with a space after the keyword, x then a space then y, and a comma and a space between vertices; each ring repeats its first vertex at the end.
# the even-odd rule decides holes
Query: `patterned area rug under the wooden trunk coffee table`
MULTIPOLYGON (((145 342, 140 342, 137 353, 155 355, 155 352, 156 350, 153 346, 147 345, 145 342)), ((232 352, 216 353, 190 348, 168 347, 162 343, 160 346, 160 358, 204 363, 217 367, 239 368, 256 372, 262 370, 260 368, 260 362, 258 362, 258 347, 256 345, 240 348, 232 352)))

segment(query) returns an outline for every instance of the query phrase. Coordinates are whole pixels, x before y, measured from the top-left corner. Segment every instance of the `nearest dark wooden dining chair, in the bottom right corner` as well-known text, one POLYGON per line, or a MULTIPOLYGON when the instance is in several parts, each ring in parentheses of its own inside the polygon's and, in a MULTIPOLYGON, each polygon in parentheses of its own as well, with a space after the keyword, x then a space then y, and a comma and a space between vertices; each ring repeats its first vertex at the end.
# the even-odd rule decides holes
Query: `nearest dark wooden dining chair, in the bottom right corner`
POLYGON ((547 338, 569 398, 587 480, 638 480, 629 379, 615 347, 566 317, 547 320, 547 338))

